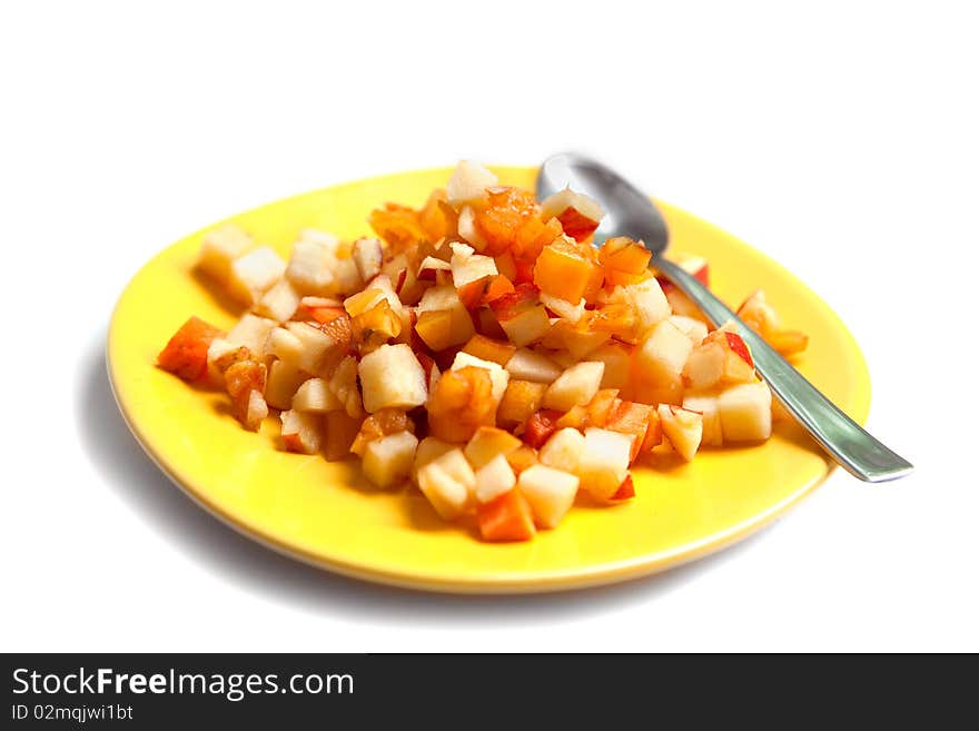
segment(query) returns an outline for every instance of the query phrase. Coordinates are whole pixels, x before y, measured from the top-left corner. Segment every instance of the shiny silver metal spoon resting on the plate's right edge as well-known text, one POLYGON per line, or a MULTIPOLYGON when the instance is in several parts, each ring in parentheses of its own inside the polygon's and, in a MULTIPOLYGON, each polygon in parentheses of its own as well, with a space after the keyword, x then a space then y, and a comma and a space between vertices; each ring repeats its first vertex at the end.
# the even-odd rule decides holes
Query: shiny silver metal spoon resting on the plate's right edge
POLYGON ((537 197, 571 187, 597 200, 605 218, 597 243, 612 236, 642 239, 653 253, 651 266, 686 294, 715 327, 733 320, 754 358, 754 367, 772 393, 820 445, 851 474, 867 482, 897 480, 913 466, 891 452, 847 416, 742 323, 705 286, 663 258, 669 241, 666 221, 647 196, 600 162, 565 152, 544 161, 537 174, 537 197))

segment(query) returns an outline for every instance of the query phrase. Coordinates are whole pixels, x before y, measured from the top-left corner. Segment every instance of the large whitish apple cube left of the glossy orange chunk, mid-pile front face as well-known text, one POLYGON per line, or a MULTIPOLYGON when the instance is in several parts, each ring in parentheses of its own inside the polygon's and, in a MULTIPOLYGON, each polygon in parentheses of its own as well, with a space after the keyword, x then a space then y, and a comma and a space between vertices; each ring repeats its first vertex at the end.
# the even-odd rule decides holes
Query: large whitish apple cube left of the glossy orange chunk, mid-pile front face
POLYGON ((404 343, 382 345, 365 355, 359 375, 364 408, 370 414, 387 407, 414 408, 428 398, 425 371, 404 343))

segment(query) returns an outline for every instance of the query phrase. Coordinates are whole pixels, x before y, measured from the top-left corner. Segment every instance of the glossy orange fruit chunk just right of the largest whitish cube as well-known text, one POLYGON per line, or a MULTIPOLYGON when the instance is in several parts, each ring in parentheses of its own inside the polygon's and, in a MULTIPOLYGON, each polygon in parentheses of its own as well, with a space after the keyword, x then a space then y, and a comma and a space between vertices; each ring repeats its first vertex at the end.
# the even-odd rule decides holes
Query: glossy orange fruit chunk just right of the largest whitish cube
POLYGON ((428 426, 446 442, 467 442, 479 426, 493 426, 496 401, 485 368, 447 371, 428 399, 428 426))

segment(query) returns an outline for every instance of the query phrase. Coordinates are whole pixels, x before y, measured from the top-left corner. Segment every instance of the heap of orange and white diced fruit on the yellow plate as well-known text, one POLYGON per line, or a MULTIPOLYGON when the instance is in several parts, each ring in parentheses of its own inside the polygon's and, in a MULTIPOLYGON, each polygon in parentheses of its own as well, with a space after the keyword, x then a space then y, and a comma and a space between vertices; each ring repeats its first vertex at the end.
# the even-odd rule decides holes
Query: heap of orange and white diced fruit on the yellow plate
MULTIPOLYGON (((594 200, 538 202, 462 162, 421 209, 387 204, 353 243, 304 230, 288 261, 225 226, 198 267, 247 308, 228 333, 189 319, 158 363, 227 391, 281 445, 412 482, 483 539, 555 527, 578 495, 617 503, 630 465, 767 439, 772 396, 728 327, 656 278, 641 243, 592 237, 594 200)), ((703 259, 679 261, 706 284, 703 259)), ((783 354, 805 348, 758 292, 739 316, 783 354)))

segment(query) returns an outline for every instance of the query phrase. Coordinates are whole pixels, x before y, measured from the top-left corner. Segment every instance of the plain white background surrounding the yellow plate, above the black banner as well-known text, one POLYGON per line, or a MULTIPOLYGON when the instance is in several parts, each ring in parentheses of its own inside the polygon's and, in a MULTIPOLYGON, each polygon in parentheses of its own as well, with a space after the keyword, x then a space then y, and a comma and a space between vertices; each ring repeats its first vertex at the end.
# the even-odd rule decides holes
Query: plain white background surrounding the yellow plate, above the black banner
POLYGON ((3 3, 0 649, 979 650, 970 3, 673 4, 3 3), (158 249, 332 182, 561 149, 822 295, 918 472, 837 473, 657 577, 459 599, 273 555, 128 437, 106 326, 158 249))

